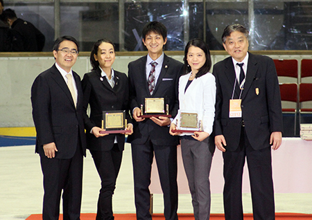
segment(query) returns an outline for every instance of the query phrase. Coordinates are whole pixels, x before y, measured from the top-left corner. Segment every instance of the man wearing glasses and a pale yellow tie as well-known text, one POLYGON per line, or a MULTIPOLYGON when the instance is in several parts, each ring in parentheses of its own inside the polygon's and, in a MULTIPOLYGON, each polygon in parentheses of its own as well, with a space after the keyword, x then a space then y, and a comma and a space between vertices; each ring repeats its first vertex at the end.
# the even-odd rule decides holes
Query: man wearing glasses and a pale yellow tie
POLYGON ((80 219, 85 128, 80 77, 71 70, 78 57, 78 42, 64 36, 55 40, 55 64, 40 73, 31 88, 35 152, 40 154, 44 177, 42 219, 80 219))

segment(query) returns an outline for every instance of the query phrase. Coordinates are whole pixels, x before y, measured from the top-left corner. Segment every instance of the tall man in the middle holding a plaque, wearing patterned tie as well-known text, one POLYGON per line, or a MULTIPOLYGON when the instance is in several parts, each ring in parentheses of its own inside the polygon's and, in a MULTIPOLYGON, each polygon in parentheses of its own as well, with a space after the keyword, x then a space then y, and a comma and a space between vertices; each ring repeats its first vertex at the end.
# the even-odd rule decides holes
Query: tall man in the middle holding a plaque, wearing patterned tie
POLYGON ((177 84, 183 64, 163 53, 166 36, 167 30, 162 23, 152 21, 146 24, 142 42, 148 49, 148 55, 128 65, 130 111, 135 119, 134 132, 128 141, 132 145, 138 220, 152 219, 148 186, 154 154, 164 193, 164 216, 166 220, 177 219, 178 138, 169 134, 171 118, 168 117, 174 118, 179 108, 177 84), (161 104, 153 107, 150 102, 161 104), (162 107, 164 116, 159 116, 159 107, 162 107))

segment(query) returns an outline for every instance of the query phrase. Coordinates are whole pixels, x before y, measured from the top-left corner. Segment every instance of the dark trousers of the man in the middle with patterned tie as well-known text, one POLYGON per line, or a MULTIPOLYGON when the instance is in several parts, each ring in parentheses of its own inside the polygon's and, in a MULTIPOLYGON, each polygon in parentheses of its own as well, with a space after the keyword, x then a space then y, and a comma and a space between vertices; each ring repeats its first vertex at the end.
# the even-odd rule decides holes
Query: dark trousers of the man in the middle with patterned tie
POLYGON ((131 149, 137 220, 152 220, 148 186, 154 154, 164 193, 164 217, 177 220, 177 146, 155 146, 148 140, 144 145, 131 144, 131 149))

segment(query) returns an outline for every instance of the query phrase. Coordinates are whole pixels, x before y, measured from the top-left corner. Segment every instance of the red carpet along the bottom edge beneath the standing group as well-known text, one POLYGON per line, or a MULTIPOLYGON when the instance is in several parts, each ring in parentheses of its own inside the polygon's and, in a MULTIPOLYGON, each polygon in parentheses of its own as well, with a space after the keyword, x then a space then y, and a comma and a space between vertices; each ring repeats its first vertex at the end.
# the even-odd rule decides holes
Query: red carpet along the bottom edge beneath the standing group
MULTIPOLYGON (((180 220, 194 219, 193 214, 178 214, 180 220)), ((276 220, 312 220, 312 214, 297 214, 297 213, 277 213, 276 220)), ((94 213, 82 213, 81 220, 94 220, 96 214, 94 213)), ((135 214, 114 214, 115 220, 135 220, 135 214)), ((26 220, 41 220, 41 214, 32 214, 26 220)), ((60 220, 62 220, 62 214, 60 220)), ((244 214, 245 220, 252 220, 252 214, 244 214)), ((164 220, 164 214, 153 214, 153 220, 164 220)), ((210 214, 210 220, 224 220, 224 214, 210 214)))

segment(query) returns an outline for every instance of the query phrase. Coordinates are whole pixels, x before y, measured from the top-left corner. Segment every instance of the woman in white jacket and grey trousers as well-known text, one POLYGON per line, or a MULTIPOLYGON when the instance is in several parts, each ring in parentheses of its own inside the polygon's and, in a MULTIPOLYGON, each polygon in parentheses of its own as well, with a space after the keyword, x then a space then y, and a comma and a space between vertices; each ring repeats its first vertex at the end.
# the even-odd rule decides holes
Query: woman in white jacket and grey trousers
POLYGON ((191 39, 184 51, 185 75, 179 80, 179 113, 171 123, 170 134, 181 136, 184 169, 189 181, 196 220, 210 215, 209 172, 213 153, 209 151, 209 135, 214 124, 216 81, 209 73, 209 48, 201 39, 191 39), (181 113, 197 113, 200 131, 176 132, 181 113))

